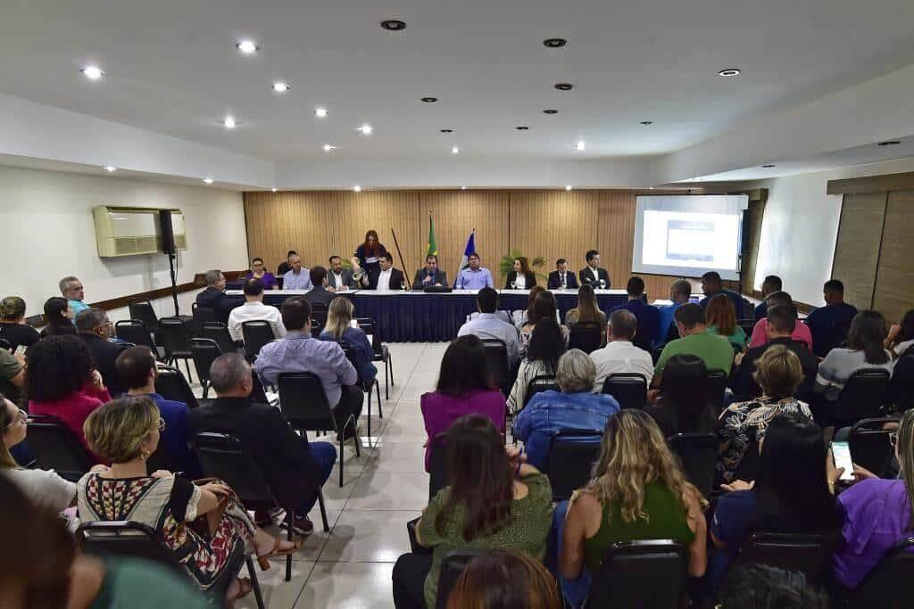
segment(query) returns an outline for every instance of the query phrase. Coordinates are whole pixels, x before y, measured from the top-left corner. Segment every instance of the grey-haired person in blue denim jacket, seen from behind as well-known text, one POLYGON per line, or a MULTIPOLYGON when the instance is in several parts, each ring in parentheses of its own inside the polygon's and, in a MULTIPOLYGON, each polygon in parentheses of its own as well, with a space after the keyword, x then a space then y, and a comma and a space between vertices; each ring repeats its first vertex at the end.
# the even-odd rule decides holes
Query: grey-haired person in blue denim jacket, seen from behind
POLYGON ((535 467, 546 467, 549 443, 561 431, 600 432, 619 412, 611 395, 594 394, 597 369, 590 356, 579 349, 565 352, 558 360, 556 380, 560 391, 549 389, 533 396, 517 415, 515 436, 524 442, 527 460, 535 467))

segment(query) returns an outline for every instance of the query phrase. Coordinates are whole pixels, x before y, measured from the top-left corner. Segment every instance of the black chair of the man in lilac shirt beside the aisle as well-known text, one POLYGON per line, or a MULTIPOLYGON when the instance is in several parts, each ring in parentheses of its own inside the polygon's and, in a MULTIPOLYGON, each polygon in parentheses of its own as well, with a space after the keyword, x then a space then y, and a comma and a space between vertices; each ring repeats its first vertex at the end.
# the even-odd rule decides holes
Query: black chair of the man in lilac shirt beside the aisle
MULTIPOLYGON (((343 432, 351 422, 356 425, 356 417, 350 415, 343 425, 336 425, 333 408, 327 402, 324 394, 324 385, 321 379, 313 373, 282 373, 277 380, 280 389, 280 404, 282 414, 292 425, 292 429, 301 433, 309 431, 326 432, 333 430, 336 435, 343 437, 343 432)), ((362 456, 358 436, 352 437, 353 446, 356 446, 356 457, 362 456)), ((343 445, 340 443, 340 487, 343 486, 343 445)))

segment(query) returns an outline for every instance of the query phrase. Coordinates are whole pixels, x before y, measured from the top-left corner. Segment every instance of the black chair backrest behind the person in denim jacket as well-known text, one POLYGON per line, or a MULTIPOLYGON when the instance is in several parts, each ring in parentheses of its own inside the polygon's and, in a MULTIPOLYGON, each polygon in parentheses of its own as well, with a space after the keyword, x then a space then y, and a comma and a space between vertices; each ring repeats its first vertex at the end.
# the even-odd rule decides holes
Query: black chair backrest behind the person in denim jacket
POLYGON ((593 463, 600 457, 603 434, 592 429, 567 429, 552 436, 546 457, 546 475, 552 485, 552 499, 569 499, 587 484, 593 463))

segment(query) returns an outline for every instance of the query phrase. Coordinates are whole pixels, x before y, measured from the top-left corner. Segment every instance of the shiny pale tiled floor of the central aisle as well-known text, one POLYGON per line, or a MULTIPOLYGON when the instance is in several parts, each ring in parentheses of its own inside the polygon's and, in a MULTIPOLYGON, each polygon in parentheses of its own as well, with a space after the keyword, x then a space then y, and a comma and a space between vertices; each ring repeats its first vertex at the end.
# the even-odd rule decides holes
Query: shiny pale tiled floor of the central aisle
MULTIPOLYGON (((446 343, 390 345, 395 386, 384 400, 384 418, 372 407, 372 447, 363 438, 362 457, 345 451, 345 485, 334 471, 324 485, 330 532, 321 525, 320 509, 311 513, 314 534, 295 556, 292 581, 284 581, 284 561, 258 572, 264 603, 271 609, 379 609, 393 607, 390 572, 397 557, 409 551, 406 522, 428 502, 429 476, 423 469, 425 428, 419 409, 421 394, 432 391, 446 343)), ((383 365, 378 379, 383 385, 383 365)), ((359 424, 366 432, 365 415, 359 424)), ((338 467, 338 466, 337 466, 338 467)), ((278 534, 278 530, 271 531, 278 534)), ((242 575, 247 573, 242 569, 242 575)), ((257 606, 253 594, 235 604, 257 606)))

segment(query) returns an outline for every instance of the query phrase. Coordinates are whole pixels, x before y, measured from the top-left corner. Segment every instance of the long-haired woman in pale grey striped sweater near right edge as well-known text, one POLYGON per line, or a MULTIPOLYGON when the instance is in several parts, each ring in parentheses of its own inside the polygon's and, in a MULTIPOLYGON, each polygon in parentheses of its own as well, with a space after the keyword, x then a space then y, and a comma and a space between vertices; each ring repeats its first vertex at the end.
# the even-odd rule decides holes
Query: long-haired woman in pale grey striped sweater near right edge
POLYGON ((862 310, 851 321, 845 347, 828 352, 815 376, 815 393, 834 402, 851 374, 862 368, 884 368, 892 373, 892 355, 883 346, 886 320, 876 310, 862 310))

